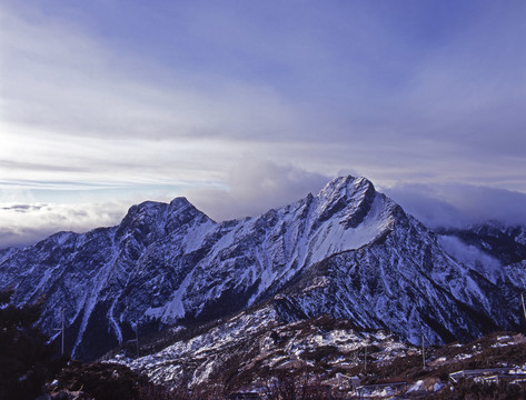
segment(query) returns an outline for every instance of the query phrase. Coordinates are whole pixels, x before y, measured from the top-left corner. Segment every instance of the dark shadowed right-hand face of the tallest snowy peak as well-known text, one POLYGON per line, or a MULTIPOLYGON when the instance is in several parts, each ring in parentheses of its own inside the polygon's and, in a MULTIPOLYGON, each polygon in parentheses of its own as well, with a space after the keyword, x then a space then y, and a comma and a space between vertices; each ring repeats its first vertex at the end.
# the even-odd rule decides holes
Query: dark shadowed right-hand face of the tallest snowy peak
POLYGON ((490 282, 449 257, 436 236, 401 209, 396 221, 379 240, 314 266, 286 291, 289 301, 307 317, 329 313, 414 343, 421 334, 437 343, 518 326, 518 304, 504 312, 510 310, 502 281, 490 282))

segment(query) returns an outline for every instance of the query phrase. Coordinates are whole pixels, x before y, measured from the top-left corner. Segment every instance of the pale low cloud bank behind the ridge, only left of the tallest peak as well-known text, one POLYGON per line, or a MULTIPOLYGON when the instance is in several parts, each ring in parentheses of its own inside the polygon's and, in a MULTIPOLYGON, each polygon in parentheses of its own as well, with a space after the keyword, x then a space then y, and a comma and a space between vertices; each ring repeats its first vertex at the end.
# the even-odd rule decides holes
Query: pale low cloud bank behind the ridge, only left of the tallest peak
MULTIPOLYGON (((222 221, 285 206, 317 192, 328 180, 291 166, 246 159, 230 170, 225 184, 180 187, 177 196, 186 196, 210 218, 222 221)), ((86 232, 118 224, 126 211, 145 200, 145 196, 148 194, 128 193, 118 201, 105 202, 38 203, 27 198, 29 201, 23 203, 0 203, 0 249, 33 244, 58 231, 86 232)), ((158 189, 149 199, 169 202, 172 197, 169 189, 158 189)))

